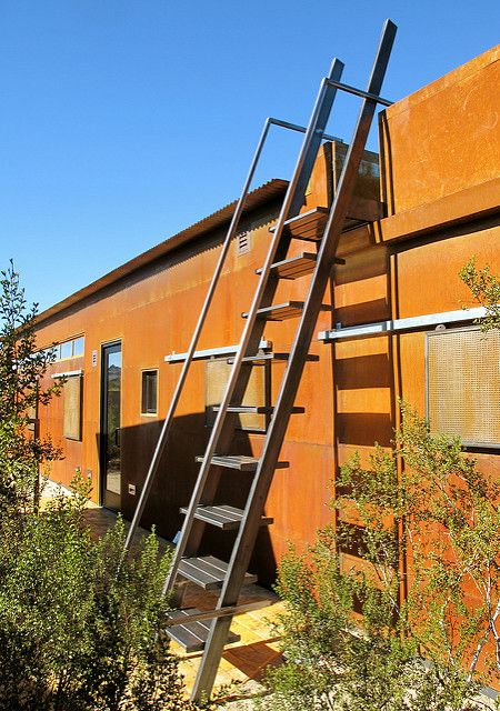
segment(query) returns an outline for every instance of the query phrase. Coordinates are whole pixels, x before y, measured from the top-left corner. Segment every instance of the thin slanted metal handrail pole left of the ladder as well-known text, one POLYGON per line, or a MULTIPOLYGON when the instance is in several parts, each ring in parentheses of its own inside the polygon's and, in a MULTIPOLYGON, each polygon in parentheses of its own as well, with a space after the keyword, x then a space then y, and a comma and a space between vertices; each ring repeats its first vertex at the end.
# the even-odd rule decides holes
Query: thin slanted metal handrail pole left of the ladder
POLYGON ((247 179, 244 181, 243 188, 241 190, 240 198, 238 200, 238 204, 237 204, 236 210, 233 212, 233 216, 231 218, 231 222, 230 222, 230 226, 228 228, 228 232, 226 234, 226 238, 224 238, 224 241, 223 241, 223 244, 222 244, 222 249, 221 249, 221 252, 219 254, 219 259, 217 261, 216 269, 213 271, 213 274, 212 274, 212 278, 211 278, 211 281, 210 281, 210 286, 209 286, 208 292, 207 292, 206 298, 204 298, 204 303, 203 303, 203 307, 201 309, 200 316, 198 318, 193 334, 191 337, 191 343, 189 346, 188 352, 186 353, 186 360, 184 360, 184 363, 182 365, 182 370, 181 370, 181 373, 179 375, 179 379, 177 381, 176 390, 174 390, 174 392, 172 394, 172 399, 170 401, 169 410, 168 410, 166 419, 163 421, 163 424, 162 424, 162 428, 161 428, 161 431, 160 431, 160 435, 158 438, 157 445, 154 448, 154 452, 153 452, 152 458, 151 458, 151 463, 149 465, 148 473, 147 473, 146 479, 144 479, 144 483, 143 483, 143 487, 142 487, 141 495, 139 497, 139 501, 137 503, 136 511, 133 513, 133 519, 132 519, 132 522, 130 524, 129 532, 127 534, 127 540, 126 540, 126 543, 124 543, 124 550, 126 551, 129 549, 129 547, 130 547, 130 544, 131 544, 131 542, 133 540, 133 537, 134 537, 134 534, 137 532, 137 529, 138 529, 138 527, 140 524, 140 520, 141 520, 146 503, 147 503, 149 494, 151 492, 151 487, 153 484, 154 477, 156 477, 156 474, 158 472, 158 468, 160 465, 161 455, 162 455, 162 453, 164 451, 164 448, 166 448, 166 444, 167 444, 167 441, 168 441, 168 437, 169 437, 169 433, 170 433, 170 429, 171 429, 171 425, 172 425, 172 422, 173 422, 173 415, 176 413, 177 405, 178 405, 180 397, 182 394, 182 390, 183 390, 183 387, 184 387, 184 383, 186 383, 186 380, 187 380, 187 377, 188 377, 188 372, 189 372, 191 362, 193 360, 194 351, 197 350, 197 346, 198 346, 198 341, 200 339, 201 330, 202 330, 202 328, 204 326, 204 322, 207 320, 207 314, 209 312, 210 306, 211 306, 212 300, 213 300, 213 294, 216 292, 218 283, 219 283, 219 278, 220 278, 220 274, 222 272, 222 268, 224 266, 224 262, 226 262, 226 259, 227 259, 227 256, 228 256, 228 252, 229 252, 229 248, 231 246, 231 240, 233 239, 233 237, 234 237, 234 234, 237 232, 241 216, 243 213, 244 203, 246 203, 248 193, 250 191, 250 186, 251 186, 251 182, 253 180, 253 176, 256 173, 257 166, 259 163, 260 157, 262 154, 262 150, 263 150, 263 147, 264 147, 264 143, 266 143, 266 139, 268 138, 268 133, 269 133, 269 129, 270 129, 271 124, 272 124, 272 119, 270 119, 270 118, 266 119, 263 128, 262 128, 262 131, 261 131, 261 134, 260 134, 260 138, 259 138, 259 141, 258 141, 256 150, 253 152, 253 157, 252 157, 252 160, 251 160, 251 163, 250 163, 250 169, 248 171, 247 179))

